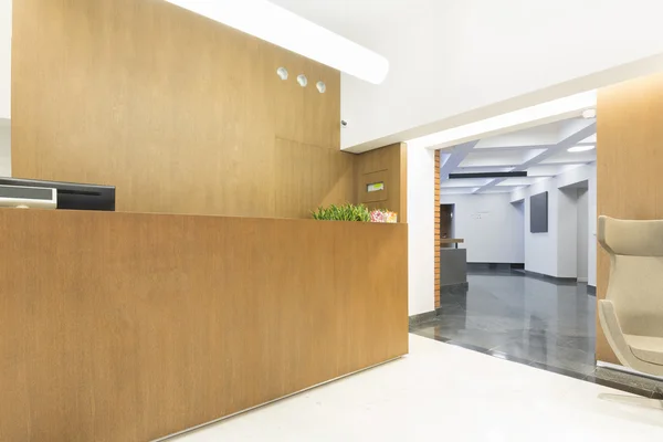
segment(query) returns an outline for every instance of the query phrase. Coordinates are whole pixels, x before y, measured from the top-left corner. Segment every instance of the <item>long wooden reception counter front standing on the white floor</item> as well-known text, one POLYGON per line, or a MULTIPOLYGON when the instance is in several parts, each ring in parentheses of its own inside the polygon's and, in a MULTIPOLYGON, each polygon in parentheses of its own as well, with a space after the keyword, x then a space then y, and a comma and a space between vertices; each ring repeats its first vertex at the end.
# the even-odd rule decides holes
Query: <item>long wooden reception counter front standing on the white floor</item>
POLYGON ((406 224, 0 210, 0 440, 148 441, 408 351, 406 224))

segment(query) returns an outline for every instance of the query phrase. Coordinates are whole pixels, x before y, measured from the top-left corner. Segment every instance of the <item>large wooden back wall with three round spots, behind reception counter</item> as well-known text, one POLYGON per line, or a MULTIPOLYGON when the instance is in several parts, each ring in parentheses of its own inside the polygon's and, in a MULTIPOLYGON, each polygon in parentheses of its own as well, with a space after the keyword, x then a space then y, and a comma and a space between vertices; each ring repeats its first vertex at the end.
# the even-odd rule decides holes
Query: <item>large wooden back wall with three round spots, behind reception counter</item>
POLYGON ((118 211, 307 217, 354 199, 339 120, 337 71, 165 1, 14 2, 14 177, 113 185, 118 211))

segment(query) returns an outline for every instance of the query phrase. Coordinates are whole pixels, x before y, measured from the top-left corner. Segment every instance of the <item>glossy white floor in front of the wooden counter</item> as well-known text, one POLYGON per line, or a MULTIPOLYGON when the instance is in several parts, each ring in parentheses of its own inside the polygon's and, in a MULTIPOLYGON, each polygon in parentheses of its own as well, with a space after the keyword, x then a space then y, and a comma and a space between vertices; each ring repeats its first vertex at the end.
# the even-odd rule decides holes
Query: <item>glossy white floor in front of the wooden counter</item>
POLYGON ((410 355, 172 439, 663 441, 663 411, 609 388, 410 335, 410 355))

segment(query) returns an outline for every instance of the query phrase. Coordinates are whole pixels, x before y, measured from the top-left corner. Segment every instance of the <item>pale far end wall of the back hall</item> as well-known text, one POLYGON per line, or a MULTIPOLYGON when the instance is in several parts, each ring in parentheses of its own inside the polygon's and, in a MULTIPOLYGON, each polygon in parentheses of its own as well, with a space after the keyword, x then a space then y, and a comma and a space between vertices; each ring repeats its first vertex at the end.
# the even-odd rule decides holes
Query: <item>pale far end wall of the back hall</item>
POLYGON ((465 240, 459 246, 467 249, 467 262, 524 262, 523 214, 509 193, 442 193, 440 203, 455 206, 454 236, 465 240))

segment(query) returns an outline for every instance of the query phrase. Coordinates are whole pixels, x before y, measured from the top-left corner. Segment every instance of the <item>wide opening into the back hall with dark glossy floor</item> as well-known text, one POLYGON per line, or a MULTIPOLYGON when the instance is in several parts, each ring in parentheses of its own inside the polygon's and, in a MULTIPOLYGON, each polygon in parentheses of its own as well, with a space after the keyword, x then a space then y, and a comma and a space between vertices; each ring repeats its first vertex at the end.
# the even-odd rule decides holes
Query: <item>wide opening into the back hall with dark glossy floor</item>
MULTIPOLYGON (((575 377, 594 372, 587 278, 596 144, 596 120, 572 117, 446 149, 435 227, 440 240, 465 241, 467 286, 441 291, 435 319, 412 332, 575 377), (539 230, 532 214, 541 194, 539 230)), ((440 275, 452 267, 438 263, 440 275)))

